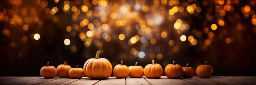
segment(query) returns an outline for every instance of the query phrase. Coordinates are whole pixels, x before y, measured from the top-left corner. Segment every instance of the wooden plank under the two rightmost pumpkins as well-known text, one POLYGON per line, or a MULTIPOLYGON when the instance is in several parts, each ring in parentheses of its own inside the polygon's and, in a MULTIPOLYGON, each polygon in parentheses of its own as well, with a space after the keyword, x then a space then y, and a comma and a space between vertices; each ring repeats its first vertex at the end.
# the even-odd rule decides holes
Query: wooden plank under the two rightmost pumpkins
POLYGON ((192 77, 192 78, 183 78, 182 80, 188 81, 193 84, 197 85, 220 85, 222 83, 211 81, 211 79, 214 79, 213 77, 210 78, 199 78, 199 77, 192 77))

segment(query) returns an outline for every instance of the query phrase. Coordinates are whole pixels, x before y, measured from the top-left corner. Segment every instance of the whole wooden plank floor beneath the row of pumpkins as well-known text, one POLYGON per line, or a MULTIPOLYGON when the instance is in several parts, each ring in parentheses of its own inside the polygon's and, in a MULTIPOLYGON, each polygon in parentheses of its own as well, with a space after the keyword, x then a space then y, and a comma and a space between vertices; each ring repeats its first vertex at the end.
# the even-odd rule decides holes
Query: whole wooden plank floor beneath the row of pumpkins
POLYGON ((169 79, 162 76, 159 79, 110 77, 105 80, 59 78, 45 79, 43 77, 0 77, 0 85, 256 85, 256 77, 210 77, 210 78, 180 78, 169 79))

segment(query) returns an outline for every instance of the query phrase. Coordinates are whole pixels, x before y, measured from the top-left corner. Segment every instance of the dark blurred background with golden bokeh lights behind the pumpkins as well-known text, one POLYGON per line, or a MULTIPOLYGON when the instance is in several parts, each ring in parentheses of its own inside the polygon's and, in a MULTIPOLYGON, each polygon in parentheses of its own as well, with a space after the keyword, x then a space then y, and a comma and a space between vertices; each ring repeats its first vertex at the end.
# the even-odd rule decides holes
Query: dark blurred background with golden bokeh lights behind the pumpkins
MULTIPOLYGON (((47 62, 113 68, 154 60, 213 76, 256 76, 255 0, 1 0, 0 76, 40 76, 47 62)), ((164 74, 163 74, 164 75, 164 74)), ((113 74, 112 74, 113 76, 113 74)))

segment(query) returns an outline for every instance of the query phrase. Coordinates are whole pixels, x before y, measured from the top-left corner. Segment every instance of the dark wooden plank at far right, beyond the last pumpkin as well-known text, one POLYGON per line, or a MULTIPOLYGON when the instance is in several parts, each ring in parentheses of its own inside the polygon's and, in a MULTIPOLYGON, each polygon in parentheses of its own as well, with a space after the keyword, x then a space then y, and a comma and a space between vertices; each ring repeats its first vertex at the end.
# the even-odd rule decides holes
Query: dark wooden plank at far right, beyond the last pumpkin
POLYGON ((256 78, 252 78, 252 77, 217 77, 217 78, 232 80, 232 81, 245 83, 245 84, 256 85, 256 82, 255 82, 256 78))

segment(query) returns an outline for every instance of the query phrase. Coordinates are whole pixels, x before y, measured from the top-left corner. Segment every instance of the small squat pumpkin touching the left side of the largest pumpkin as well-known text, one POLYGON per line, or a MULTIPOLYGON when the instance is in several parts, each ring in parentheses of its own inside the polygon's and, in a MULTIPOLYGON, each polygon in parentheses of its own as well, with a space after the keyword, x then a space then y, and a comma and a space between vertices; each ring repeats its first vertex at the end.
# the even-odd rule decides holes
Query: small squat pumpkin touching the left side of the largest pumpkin
POLYGON ((76 68, 71 68, 69 70, 69 77, 73 78, 73 79, 80 79, 83 77, 83 75, 85 75, 83 73, 83 69, 82 68, 78 68, 78 65, 76 65, 76 68))

